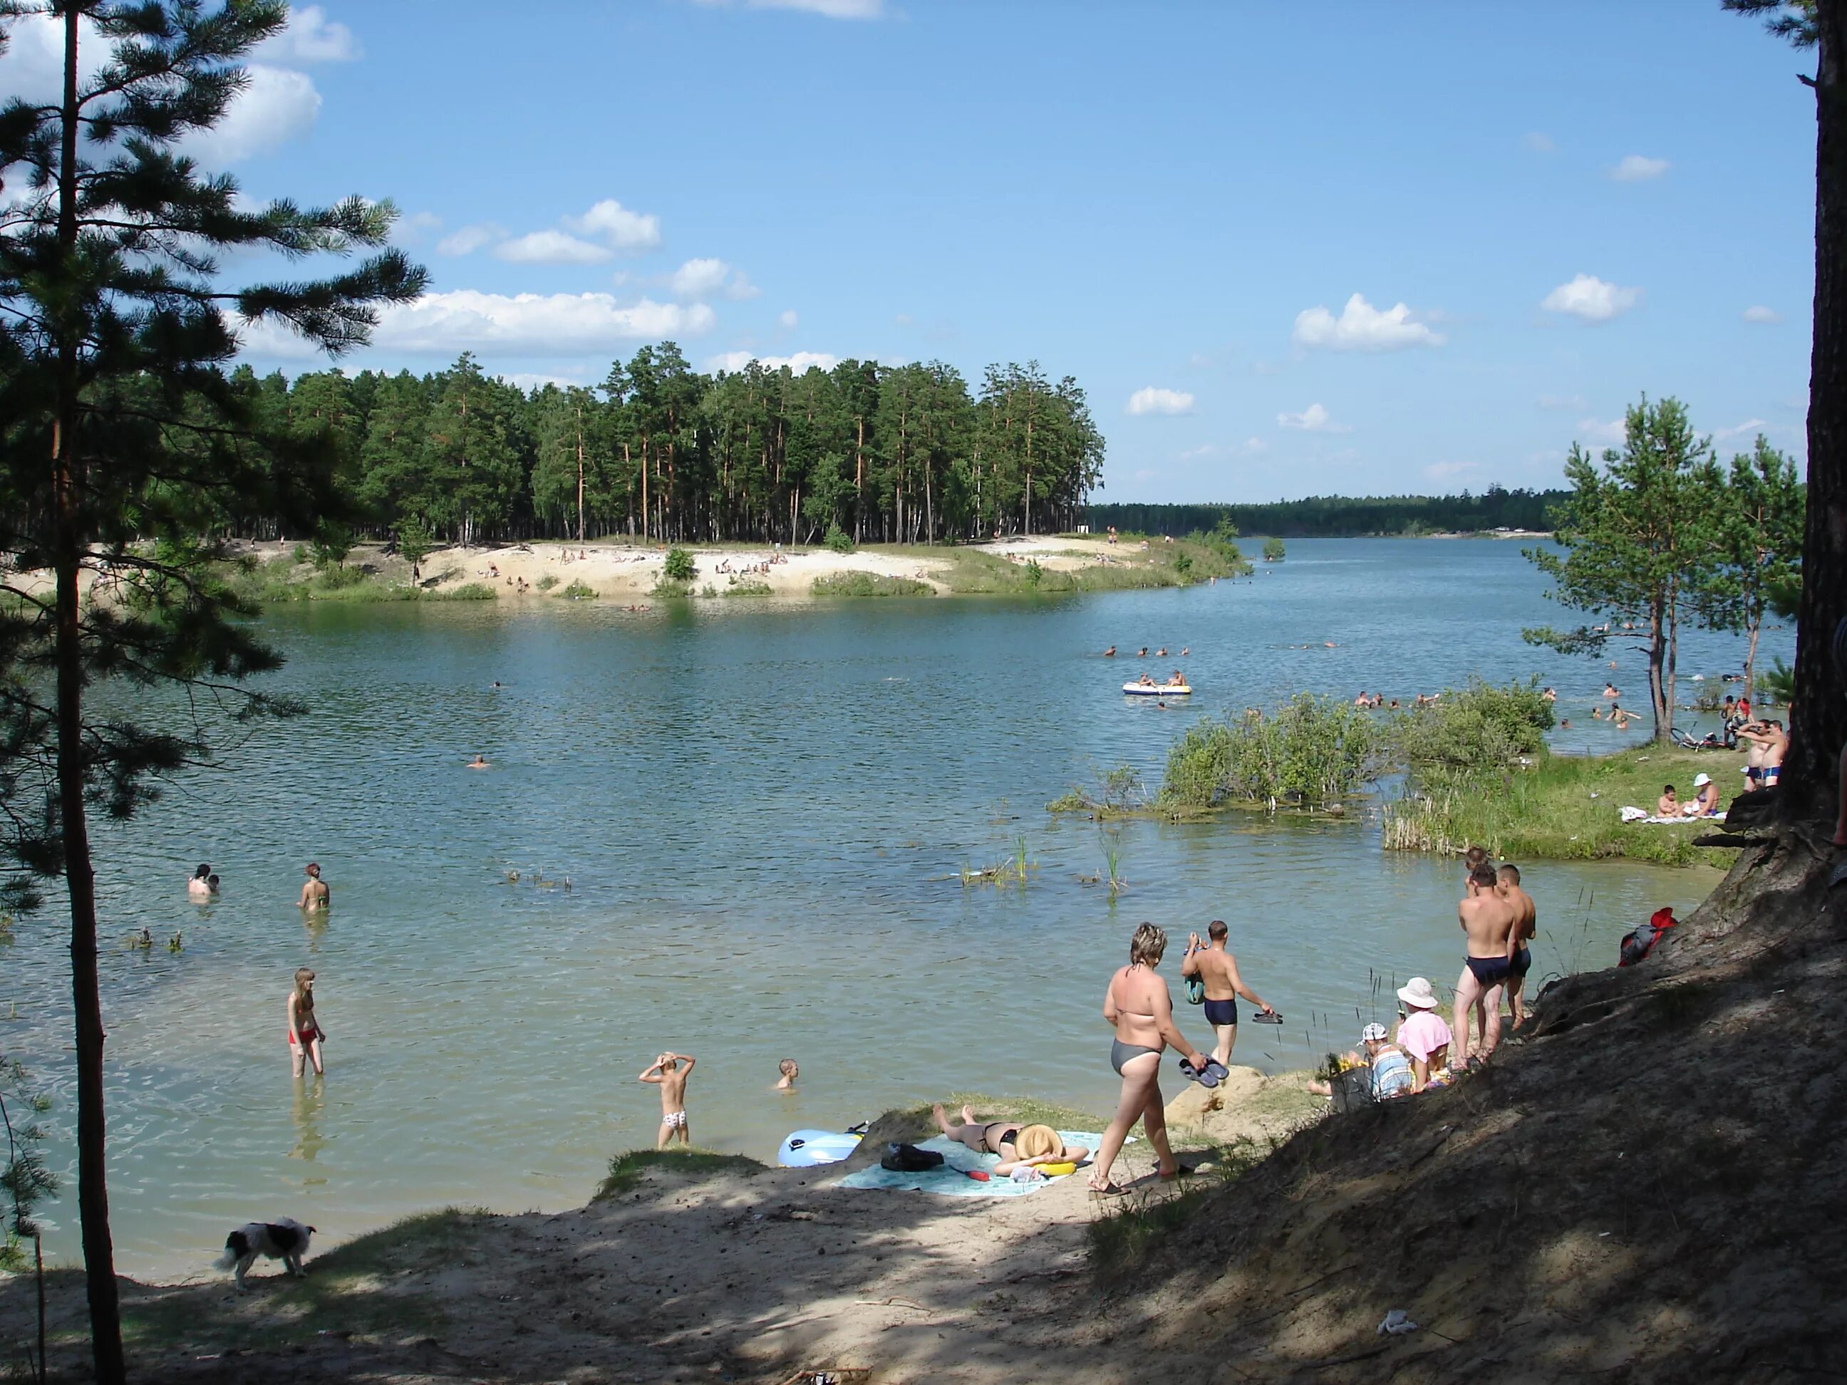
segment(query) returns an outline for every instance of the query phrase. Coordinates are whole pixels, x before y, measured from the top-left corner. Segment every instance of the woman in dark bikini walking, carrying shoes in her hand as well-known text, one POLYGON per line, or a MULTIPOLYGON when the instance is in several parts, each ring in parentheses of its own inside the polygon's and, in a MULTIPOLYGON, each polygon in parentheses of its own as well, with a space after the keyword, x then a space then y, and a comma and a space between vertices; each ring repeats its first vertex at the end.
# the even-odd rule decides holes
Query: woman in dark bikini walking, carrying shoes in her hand
POLYGON ((1110 1045, 1110 1066, 1123 1078, 1123 1095, 1116 1104, 1116 1119, 1103 1132, 1103 1149, 1090 1173, 1090 1187, 1097 1193, 1121 1193, 1110 1182, 1110 1165, 1123 1150, 1129 1128, 1141 1121, 1154 1147, 1162 1178, 1178 1178, 1180 1163, 1167 1145, 1167 1115, 1160 1099, 1160 1054, 1169 1043, 1186 1054, 1188 1062, 1204 1071, 1206 1054, 1199 1053, 1173 1023, 1173 997, 1167 982, 1156 975, 1167 934, 1153 923, 1136 929, 1129 940, 1129 966, 1117 968, 1110 988, 1103 992, 1103 1018, 1116 1027, 1110 1045))

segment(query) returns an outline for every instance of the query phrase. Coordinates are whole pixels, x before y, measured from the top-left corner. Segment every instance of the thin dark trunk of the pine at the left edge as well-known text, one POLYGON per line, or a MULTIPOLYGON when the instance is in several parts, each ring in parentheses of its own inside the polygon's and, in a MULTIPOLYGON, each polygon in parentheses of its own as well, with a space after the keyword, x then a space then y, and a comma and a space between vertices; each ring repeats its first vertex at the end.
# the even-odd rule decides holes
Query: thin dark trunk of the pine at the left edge
MULTIPOLYGON (((65 102, 59 166, 57 249, 78 260, 78 7, 65 11, 65 102)), ((83 813, 83 613, 78 572, 83 560, 81 456, 78 452, 78 331, 63 323, 54 434, 57 580, 54 657, 57 665, 57 811, 70 897, 70 999, 78 1040, 78 1215, 83 1222, 83 1274, 91 1300, 91 1357, 100 1385, 122 1385, 122 1307, 116 1298, 115 1243, 109 1235, 109 1167, 103 1123, 103 1006, 96 977, 96 872, 83 813)))

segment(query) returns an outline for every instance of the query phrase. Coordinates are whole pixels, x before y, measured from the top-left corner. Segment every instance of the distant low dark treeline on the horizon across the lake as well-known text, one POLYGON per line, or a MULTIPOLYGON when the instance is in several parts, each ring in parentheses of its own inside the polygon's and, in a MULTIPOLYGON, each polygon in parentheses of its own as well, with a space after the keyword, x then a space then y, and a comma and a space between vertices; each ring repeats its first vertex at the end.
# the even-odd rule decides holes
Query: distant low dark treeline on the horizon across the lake
POLYGON ((1570 491, 1509 491, 1489 486, 1481 495, 1311 495, 1271 504, 1093 504, 1092 530, 1114 524, 1136 534, 1210 532, 1219 523, 1239 534, 1284 539, 1341 539, 1365 534, 1455 534, 1491 528, 1551 528, 1548 513, 1570 491))

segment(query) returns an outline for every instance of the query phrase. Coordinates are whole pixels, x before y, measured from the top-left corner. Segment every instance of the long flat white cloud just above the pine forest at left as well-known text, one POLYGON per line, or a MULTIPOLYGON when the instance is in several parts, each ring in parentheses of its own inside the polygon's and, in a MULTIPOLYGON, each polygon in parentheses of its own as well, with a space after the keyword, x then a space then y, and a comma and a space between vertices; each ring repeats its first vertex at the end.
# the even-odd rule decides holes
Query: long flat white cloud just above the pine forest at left
POLYGON ((626 307, 610 294, 480 294, 458 288, 425 294, 416 303, 388 307, 373 331, 373 345, 388 351, 464 349, 528 356, 604 351, 624 342, 698 336, 717 318, 704 303, 654 303, 626 307))

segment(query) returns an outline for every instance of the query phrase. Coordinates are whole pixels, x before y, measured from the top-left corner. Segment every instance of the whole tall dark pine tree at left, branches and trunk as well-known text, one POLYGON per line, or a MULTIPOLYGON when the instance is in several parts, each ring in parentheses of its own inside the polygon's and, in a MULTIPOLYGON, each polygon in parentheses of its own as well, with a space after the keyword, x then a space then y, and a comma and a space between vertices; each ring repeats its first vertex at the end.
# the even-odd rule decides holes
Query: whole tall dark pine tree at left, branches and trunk
POLYGON ((103 1025, 89 816, 131 816, 157 779, 209 755, 211 724, 151 729, 94 715, 102 680, 201 689, 247 720, 279 704, 238 681, 277 656, 233 619, 211 537, 225 513, 312 528, 331 491, 325 438, 260 436, 249 382, 225 377, 235 323, 266 321, 340 351, 375 305, 414 297, 423 273, 382 249, 390 203, 249 211, 183 140, 218 124, 246 87, 236 65, 288 20, 283 0, 6 0, 63 33, 59 92, 0 107, 0 177, 17 198, 0 235, 0 560, 48 571, 0 615, 0 796, 15 899, 61 877, 76 1010, 78 1210, 94 1376, 124 1379, 103 1125, 103 1025), (79 46, 107 61, 81 76, 79 46), (290 259, 373 249, 310 283, 220 288, 216 255, 290 259))

